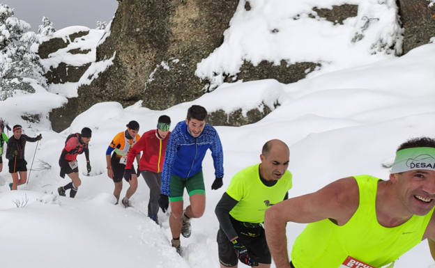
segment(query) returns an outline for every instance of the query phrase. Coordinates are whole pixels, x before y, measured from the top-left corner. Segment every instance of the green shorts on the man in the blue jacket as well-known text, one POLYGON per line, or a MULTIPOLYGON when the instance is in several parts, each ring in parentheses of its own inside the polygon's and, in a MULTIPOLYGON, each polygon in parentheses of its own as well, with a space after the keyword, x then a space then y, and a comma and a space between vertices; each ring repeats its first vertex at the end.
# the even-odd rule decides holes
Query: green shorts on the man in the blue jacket
POLYGON ((169 201, 171 202, 183 200, 184 188, 188 190, 189 196, 194 194, 206 194, 202 171, 187 179, 172 175, 169 187, 171 189, 169 201))

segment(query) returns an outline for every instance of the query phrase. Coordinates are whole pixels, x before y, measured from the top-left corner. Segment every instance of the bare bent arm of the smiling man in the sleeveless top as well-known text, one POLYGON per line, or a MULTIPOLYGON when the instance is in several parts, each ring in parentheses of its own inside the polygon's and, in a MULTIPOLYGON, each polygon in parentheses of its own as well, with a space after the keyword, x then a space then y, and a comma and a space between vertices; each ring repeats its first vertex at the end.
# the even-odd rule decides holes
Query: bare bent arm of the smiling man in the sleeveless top
POLYGON ((289 268, 287 221, 312 223, 331 219, 342 226, 358 208, 358 184, 353 177, 332 182, 312 194, 290 198, 266 210, 266 239, 277 268, 289 268))

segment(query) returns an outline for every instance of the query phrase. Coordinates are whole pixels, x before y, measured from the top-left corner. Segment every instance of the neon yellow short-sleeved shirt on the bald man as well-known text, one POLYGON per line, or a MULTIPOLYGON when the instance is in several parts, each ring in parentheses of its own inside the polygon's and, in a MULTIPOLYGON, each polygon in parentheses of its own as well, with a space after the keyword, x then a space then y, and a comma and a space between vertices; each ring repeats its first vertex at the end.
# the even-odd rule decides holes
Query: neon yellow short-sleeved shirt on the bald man
POLYGON ((266 186, 260 180, 259 164, 239 171, 231 179, 227 194, 238 201, 229 214, 238 221, 262 223, 267 208, 284 199, 291 189, 291 173, 284 175, 273 186, 266 186))

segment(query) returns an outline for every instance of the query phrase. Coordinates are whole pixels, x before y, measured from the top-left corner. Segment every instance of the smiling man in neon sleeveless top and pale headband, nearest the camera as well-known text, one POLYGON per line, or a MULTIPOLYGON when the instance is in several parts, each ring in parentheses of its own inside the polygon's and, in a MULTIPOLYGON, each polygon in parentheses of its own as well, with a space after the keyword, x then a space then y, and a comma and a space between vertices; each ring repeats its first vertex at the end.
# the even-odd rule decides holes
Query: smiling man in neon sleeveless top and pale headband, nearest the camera
POLYGON ((435 140, 411 139, 397 149, 390 180, 343 178, 271 207, 266 238, 277 268, 383 267, 435 239, 434 205, 435 140), (287 221, 309 223, 290 263, 287 221))

